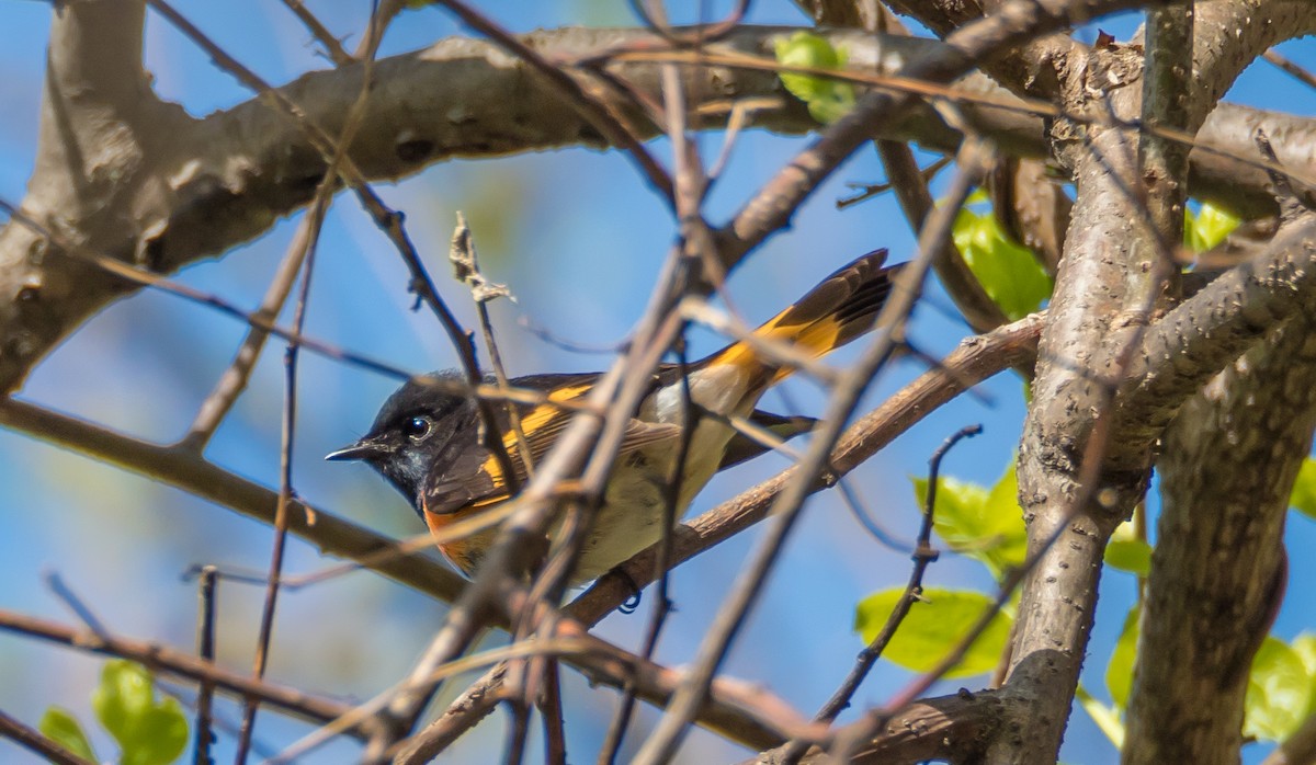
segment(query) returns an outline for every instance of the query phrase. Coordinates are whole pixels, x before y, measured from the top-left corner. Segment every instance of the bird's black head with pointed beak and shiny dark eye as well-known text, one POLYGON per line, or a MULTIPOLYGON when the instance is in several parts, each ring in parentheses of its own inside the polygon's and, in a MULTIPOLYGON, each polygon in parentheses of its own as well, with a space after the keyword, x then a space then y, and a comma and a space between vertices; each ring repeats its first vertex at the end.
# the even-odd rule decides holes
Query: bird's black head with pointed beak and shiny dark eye
POLYGON ((370 432, 325 459, 367 463, 418 507, 425 477, 478 438, 474 401, 442 389, 459 380, 449 371, 407 382, 384 402, 370 432))

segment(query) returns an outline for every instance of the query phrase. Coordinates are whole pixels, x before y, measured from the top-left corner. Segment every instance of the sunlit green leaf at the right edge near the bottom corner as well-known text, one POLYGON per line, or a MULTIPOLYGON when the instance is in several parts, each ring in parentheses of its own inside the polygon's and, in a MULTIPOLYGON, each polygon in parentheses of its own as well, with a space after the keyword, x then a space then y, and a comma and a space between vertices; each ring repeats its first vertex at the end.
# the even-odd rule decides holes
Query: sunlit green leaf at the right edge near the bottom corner
POLYGON ((1302 655, 1283 640, 1266 638, 1252 660, 1242 732, 1262 741, 1287 739, 1307 719, 1312 674, 1302 655))

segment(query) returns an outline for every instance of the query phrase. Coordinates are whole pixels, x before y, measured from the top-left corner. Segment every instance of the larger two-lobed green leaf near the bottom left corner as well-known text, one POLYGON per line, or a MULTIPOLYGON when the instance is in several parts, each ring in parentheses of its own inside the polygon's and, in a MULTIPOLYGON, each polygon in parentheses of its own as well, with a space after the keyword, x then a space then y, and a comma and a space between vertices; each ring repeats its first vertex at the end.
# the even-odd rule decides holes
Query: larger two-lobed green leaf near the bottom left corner
POLYGON ((120 765, 166 765, 183 754, 187 718, 176 701, 155 701, 151 674, 139 664, 105 662, 91 703, 122 749, 120 765))

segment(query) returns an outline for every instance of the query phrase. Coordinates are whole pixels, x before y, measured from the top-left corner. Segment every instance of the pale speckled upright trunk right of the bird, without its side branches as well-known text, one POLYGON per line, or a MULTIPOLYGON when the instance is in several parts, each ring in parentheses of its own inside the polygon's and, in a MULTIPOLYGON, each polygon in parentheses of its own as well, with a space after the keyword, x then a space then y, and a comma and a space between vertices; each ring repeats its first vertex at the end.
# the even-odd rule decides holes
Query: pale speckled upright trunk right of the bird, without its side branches
MULTIPOLYGON (((1094 50, 1088 79, 1066 96, 1130 120, 1138 113, 1140 70, 1136 49, 1094 50)), ((991 756, 999 761, 1051 761, 1059 749, 1105 540, 1141 497, 1150 472, 1150 444, 1111 438, 1115 385, 1169 271, 1141 209, 1136 134, 1065 122, 1055 134, 1073 141, 1065 156, 1078 195, 1020 446, 1029 553, 1041 557, 1024 584, 1007 680, 1029 699, 1032 714, 1019 735, 994 744, 991 756)))

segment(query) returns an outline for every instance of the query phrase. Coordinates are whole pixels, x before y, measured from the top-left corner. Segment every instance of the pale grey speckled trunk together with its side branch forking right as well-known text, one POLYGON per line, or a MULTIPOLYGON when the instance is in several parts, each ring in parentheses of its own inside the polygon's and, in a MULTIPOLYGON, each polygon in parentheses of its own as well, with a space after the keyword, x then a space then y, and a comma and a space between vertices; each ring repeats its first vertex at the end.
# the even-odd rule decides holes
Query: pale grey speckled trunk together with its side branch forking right
MULTIPOLYGON (((1295 21, 1271 37, 1303 29, 1295 21)), ((1250 50, 1254 57, 1261 50, 1250 46, 1265 45, 1252 35, 1223 37, 1219 24, 1198 30, 1195 50, 1200 45, 1208 53, 1195 53, 1195 66, 1207 66, 1213 55, 1229 62, 1250 50)), ((1238 70, 1225 63, 1211 68, 1221 81, 1205 84, 1205 91, 1199 87, 1194 99, 1224 92, 1238 70)), ((1066 84, 1065 100, 1071 109, 1101 110, 1126 122, 1140 109, 1141 93, 1129 85, 1141 75, 1141 50, 1094 50, 1066 84)), ((1200 114, 1212 104, 1195 100, 1192 106, 1200 114)), ((1024 586, 1008 678, 1008 687, 1032 701, 1034 715, 1017 737, 995 744, 991 757, 1001 761, 1055 756, 1067 719, 1062 710, 1070 707, 1087 647, 1105 542, 1145 492, 1159 426, 1202 376, 1213 375, 1292 315, 1302 305, 1305 281, 1312 279, 1304 272, 1312 263, 1309 239, 1286 238, 1277 243, 1284 246, 1278 254, 1280 263, 1291 259, 1292 268, 1275 266, 1254 280, 1258 284, 1249 283, 1255 287, 1252 294, 1236 296, 1242 300, 1221 306, 1215 319, 1184 314, 1228 327, 1211 334, 1209 343, 1207 335, 1183 325, 1179 310, 1145 330, 1171 272, 1166 255, 1174 242, 1157 233, 1157 221, 1145 210, 1145 195, 1157 191, 1144 183, 1136 135, 1117 125, 1063 121, 1053 135, 1059 155, 1074 168, 1078 201, 1042 334, 1019 465, 1029 548, 1051 544, 1024 586), (1175 348, 1182 355, 1170 348, 1149 352, 1149 340, 1184 343, 1175 348), (1182 367, 1195 360, 1203 363, 1195 369, 1199 375, 1183 375, 1182 367), (1133 404, 1137 396, 1117 394, 1130 373, 1157 389, 1157 406, 1162 407, 1158 422, 1141 418, 1148 405, 1140 409, 1133 404)), ((1308 226, 1300 229, 1299 234, 1309 235, 1308 226)), ((1254 275, 1252 268, 1240 267, 1230 277, 1246 283, 1254 275)), ((1200 308, 1230 284, 1225 281, 1190 304, 1200 308)))

